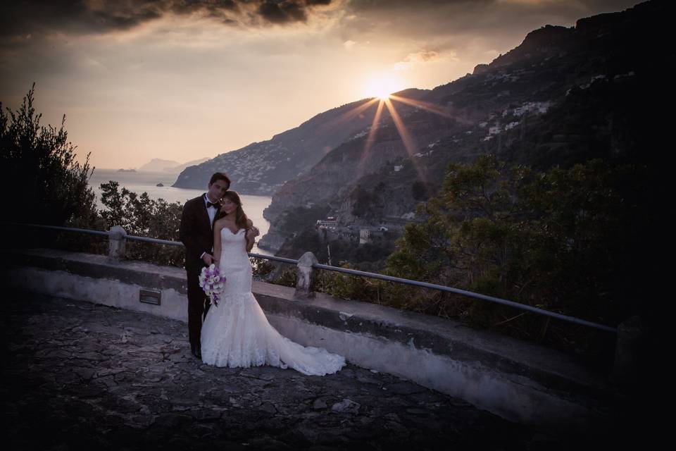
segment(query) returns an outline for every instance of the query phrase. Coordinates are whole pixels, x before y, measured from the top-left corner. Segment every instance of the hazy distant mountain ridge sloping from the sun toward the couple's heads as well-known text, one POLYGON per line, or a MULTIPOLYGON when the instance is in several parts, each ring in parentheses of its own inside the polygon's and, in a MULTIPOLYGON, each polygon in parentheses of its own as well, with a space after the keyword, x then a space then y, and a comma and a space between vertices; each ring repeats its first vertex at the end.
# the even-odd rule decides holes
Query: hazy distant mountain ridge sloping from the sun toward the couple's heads
MULTIPOLYGON (((423 89, 402 93, 411 99, 424 94, 423 89)), ((363 99, 325 111, 271 140, 253 142, 185 168, 173 186, 202 188, 211 174, 223 171, 238 192, 271 195, 287 180, 306 173, 334 147, 363 133, 376 110, 374 101, 363 99)))

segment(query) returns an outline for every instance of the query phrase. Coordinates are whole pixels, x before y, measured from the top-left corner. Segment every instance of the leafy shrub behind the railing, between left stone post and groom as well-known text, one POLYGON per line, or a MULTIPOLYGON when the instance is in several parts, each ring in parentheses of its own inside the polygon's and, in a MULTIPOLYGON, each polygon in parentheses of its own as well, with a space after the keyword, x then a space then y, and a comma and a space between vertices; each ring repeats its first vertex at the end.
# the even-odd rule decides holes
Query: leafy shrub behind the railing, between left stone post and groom
MULTIPOLYGON (((151 199, 148 193, 137 194, 119 189, 119 183, 110 181, 101 184, 101 218, 106 230, 122 226, 127 235, 179 241, 178 229, 183 206, 180 202, 170 204, 164 199, 151 199)), ((158 265, 184 265, 184 248, 173 245, 158 245, 127 240, 127 258, 150 261, 158 265)))

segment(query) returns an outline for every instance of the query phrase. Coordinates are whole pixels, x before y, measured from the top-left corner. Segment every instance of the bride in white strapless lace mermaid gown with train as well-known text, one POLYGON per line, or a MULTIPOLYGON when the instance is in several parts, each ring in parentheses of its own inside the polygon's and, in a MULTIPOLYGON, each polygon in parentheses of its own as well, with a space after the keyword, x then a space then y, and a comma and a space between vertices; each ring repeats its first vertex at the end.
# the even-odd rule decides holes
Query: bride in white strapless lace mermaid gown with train
POLYGON ((202 326, 202 361, 209 365, 246 367, 270 365, 292 368, 311 376, 335 373, 344 357, 323 348, 303 347, 270 326, 251 293, 251 262, 246 252, 253 223, 242 210, 239 194, 226 191, 213 224, 213 250, 225 290, 212 305, 202 326))

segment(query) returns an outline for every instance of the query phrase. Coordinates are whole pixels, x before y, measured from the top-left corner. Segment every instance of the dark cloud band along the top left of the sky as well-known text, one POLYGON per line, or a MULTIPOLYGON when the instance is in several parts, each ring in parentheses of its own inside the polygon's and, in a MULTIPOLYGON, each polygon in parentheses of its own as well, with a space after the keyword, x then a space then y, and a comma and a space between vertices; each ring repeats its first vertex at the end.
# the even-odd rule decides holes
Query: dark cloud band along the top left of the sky
POLYGON ((106 33, 130 30, 165 14, 202 14, 223 23, 303 23, 315 6, 331 0, 23 0, 3 1, 0 35, 5 37, 106 33))

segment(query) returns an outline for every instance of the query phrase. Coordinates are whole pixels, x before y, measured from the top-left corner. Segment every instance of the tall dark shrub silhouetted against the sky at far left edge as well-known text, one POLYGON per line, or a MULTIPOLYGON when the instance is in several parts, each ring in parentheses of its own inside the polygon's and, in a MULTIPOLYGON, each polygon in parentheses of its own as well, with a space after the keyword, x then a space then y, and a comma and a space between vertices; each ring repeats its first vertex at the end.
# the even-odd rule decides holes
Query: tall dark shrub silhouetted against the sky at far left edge
POLYGON ((18 111, 0 103, 0 189, 15 193, 6 197, 6 209, 18 221, 63 226, 77 217, 91 218, 95 195, 87 185, 93 170, 89 155, 75 161, 75 147, 68 142, 65 116, 60 128, 40 125, 35 113, 35 85, 18 111))

